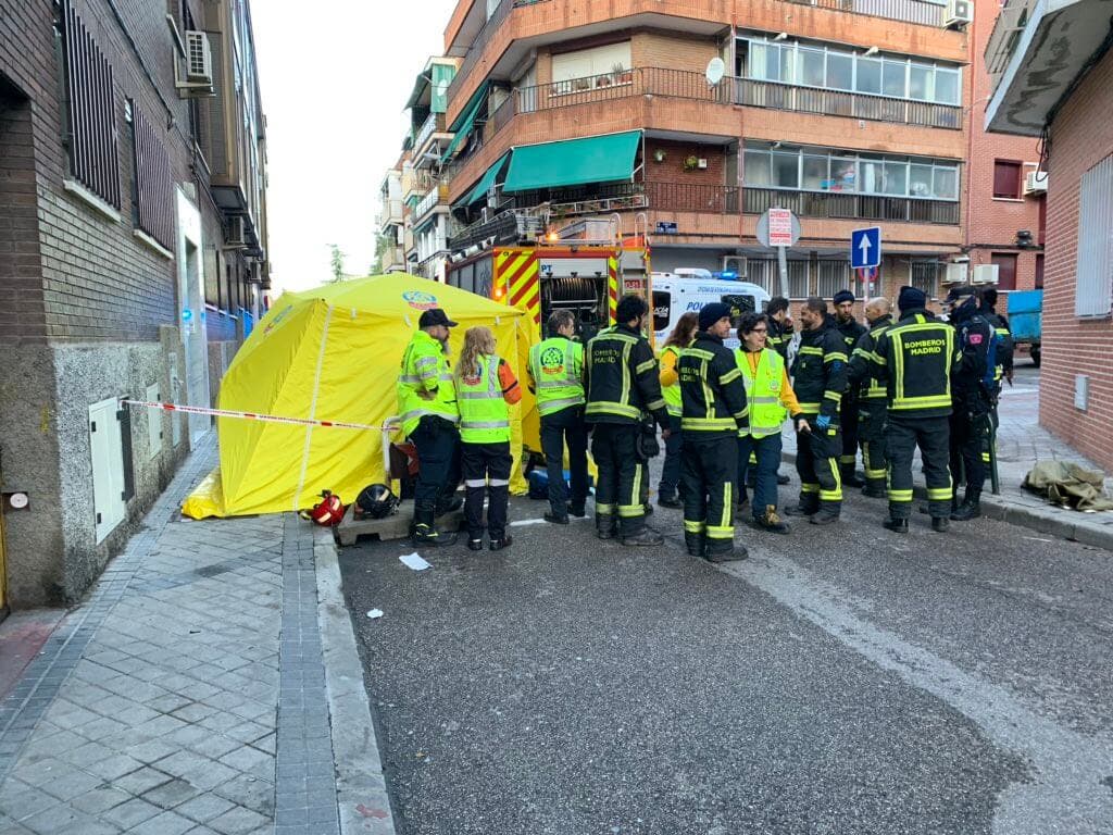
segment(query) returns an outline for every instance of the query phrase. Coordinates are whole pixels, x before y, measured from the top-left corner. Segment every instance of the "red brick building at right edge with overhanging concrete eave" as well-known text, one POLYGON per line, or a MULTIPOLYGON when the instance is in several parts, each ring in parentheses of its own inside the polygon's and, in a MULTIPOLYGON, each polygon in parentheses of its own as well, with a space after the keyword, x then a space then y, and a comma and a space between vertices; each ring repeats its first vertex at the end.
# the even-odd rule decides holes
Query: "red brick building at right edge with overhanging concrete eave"
POLYGON ((1040 422, 1113 471, 1113 35, 1107 4, 1006 3, 986 50, 992 130, 1047 147, 1040 422))

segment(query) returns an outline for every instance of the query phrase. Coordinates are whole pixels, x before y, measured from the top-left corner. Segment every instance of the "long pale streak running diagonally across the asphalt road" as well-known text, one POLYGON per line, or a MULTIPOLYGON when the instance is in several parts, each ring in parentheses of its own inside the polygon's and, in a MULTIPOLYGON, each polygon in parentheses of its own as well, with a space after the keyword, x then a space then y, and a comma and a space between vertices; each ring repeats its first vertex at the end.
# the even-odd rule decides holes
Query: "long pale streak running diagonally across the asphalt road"
POLYGON ((1022 697, 855 613, 853 596, 789 559, 751 558, 725 573, 760 589, 883 669, 959 711, 995 745, 1028 760, 1032 779, 997 798, 995 835, 1113 833, 1113 737, 1083 736, 1041 716, 1022 697), (849 605, 848 605, 848 601, 849 605))

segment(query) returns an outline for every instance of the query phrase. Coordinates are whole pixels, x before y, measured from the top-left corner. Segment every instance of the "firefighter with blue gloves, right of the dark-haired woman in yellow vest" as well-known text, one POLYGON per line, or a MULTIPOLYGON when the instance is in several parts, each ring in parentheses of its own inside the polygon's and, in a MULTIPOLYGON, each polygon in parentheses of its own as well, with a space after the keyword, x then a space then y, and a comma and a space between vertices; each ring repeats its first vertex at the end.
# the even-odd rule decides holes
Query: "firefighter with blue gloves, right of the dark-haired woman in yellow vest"
POLYGON ((800 402, 797 422, 796 471, 800 499, 789 515, 806 515, 812 524, 838 521, 843 510, 839 455, 839 404, 846 391, 847 353, 843 334, 827 313, 827 302, 810 296, 800 310, 800 347, 792 363, 792 387, 800 402))

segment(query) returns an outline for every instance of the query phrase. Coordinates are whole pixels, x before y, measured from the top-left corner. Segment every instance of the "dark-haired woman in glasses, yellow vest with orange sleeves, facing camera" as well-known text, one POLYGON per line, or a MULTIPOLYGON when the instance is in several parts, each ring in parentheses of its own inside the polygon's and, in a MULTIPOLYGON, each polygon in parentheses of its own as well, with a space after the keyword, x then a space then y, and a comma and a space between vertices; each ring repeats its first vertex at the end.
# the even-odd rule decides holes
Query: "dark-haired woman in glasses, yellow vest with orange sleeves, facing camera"
MULTIPOLYGON (((777 514, 777 465, 780 463, 780 428, 791 415, 794 423, 806 423, 800 404, 788 381, 788 366, 779 353, 766 347, 768 316, 742 314, 738 323, 735 352, 746 383, 749 428, 738 431, 739 483, 748 468, 755 470, 751 514, 759 530, 788 533, 788 525, 777 514), (754 464, 751 460, 756 458, 754 464)), ((739 493, 745 489, 739 487, 739 493)))

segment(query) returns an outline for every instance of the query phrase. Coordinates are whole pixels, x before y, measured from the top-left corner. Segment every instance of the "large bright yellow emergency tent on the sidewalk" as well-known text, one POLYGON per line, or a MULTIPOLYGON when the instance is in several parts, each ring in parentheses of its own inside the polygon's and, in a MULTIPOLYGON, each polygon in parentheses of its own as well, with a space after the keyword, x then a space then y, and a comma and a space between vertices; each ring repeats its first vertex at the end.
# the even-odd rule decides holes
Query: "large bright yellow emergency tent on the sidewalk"
MULTIPOLYGON (((394 273, 284 294, 236 354, 219 407, 381 426, 397 414, 402 354, 430 307, 460 323, 452 330, 453 355, 467 327, 485 325, 522 381, 522 403, 511 410, 511 489, 524 492, 522 415, 536 411, 525 364, 536 326, 522 311, 425 278, 394 273)), ((319 501, 322 490, 349 503, 366 484, 387 480, 378 431, 219 418, 217 434, 220 468, 183 507, 194 519, 302 510, 319 501)))

